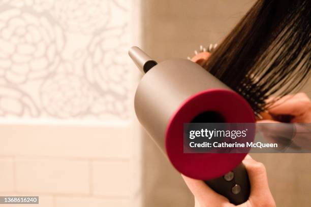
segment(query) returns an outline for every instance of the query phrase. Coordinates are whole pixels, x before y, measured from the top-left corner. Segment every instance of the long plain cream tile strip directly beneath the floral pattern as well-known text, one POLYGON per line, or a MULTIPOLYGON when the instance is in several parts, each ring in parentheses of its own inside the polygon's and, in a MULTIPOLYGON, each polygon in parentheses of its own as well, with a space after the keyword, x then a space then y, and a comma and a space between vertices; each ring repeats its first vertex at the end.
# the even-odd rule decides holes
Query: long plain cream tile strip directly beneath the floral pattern
POLYGON ((133 128, 1 124, 0 155, 129 158, 133 128))

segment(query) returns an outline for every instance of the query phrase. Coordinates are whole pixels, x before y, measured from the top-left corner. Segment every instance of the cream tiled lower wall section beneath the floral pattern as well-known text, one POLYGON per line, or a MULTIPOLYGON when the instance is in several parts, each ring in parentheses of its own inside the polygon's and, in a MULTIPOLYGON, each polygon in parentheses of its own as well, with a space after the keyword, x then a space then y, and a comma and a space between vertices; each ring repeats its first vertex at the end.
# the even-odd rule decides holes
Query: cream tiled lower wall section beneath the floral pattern
POLYGON ((133 129, 2 124, 0 195, 38 195, 39 206, 139 206, 133 129))

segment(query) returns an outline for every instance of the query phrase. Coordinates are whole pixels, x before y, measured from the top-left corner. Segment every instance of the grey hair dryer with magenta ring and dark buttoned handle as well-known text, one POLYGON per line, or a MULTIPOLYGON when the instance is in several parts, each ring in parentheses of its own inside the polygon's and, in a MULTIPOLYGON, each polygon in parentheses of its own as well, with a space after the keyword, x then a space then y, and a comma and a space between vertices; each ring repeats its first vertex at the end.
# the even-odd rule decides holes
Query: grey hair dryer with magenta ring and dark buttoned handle
POLYGON ((138 47, 129 55, 144 73, 135 94, 136 116, 153 141, 181 174, 204 180, 234 204, 245 202, 246 154, 183 153, 183 123, 254 123, 247 101, 190 60, 157 64, 138 47))

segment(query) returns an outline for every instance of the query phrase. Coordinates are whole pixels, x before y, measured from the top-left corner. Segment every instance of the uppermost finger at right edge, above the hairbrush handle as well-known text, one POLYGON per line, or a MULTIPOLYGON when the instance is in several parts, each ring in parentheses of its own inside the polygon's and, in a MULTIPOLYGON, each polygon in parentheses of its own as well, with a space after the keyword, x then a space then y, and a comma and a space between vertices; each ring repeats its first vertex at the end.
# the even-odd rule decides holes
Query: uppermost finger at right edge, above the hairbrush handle
POLYGON ((268 111, 271 114, 288 114, 299 116, 304 113, 310 105, 310 99, 305 93, 297 93, 295 95, 287 95, 275 101, 268 111))

